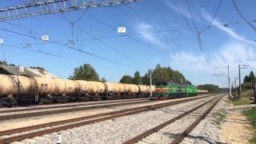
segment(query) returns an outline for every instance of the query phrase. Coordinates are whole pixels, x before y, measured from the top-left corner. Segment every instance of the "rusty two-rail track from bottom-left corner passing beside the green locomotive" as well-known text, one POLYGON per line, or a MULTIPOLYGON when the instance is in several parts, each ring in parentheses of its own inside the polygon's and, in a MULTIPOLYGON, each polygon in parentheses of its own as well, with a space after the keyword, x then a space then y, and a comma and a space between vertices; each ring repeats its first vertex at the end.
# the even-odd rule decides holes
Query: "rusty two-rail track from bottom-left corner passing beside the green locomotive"
MULTIPOLYGON (((209 96, 206 96, 209 97, 209 96)), ((95 122, 102 122, 113 118, 120 118, 130 114, 138 114, 143 111, 154 110, 165 106, 171 106, 175 104, 179 104, 182 102, 189 102, 192 100, 197 100, 206 97, 194 97, 188 99, 182 99, 178 101, 172 102, 163 102, 158 104, 153 104, 150 106, 140 106, 135 108, 130 108, 126 110, 118 110, 114 112, 102 113, 102 114, 94 114, 81 118, 71 118, 58 122, 49 122, 42 125, 36 126, 26 126, 13 130, 5 130, 0 131, 0 144, 2 143, 10 143, 22 141, 26 138, 34 138, 43 134, 50 134, 54 132, 58 132, 60 130, 67 130, 78 126, 85 126, 95 122), (38 130, 40 129, 40 130, 38 130)))

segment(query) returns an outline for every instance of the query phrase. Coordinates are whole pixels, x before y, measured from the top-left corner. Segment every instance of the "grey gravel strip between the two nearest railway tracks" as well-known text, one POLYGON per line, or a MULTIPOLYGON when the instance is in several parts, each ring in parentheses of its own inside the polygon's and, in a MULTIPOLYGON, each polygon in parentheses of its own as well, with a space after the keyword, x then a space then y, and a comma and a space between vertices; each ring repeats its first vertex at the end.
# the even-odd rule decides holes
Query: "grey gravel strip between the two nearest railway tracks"
MULTIPOLYGON (((207 100, 209 98, 167 106, 140 114, 132 114, 122 118, 114 118, 58 133, 62 134, 62 143, 122 143, 207 100)), ((56 143, 56 135, 57 133, 46 134, 22 142, 56 143)))

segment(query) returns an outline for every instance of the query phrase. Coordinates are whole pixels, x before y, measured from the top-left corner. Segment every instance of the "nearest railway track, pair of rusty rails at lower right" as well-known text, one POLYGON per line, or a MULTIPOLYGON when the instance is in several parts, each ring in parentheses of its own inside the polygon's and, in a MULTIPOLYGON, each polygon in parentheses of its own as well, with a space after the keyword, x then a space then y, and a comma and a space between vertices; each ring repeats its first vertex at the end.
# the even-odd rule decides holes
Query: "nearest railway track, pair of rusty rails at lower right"
MULTIPOLYGON (((187 128, 185 130, 182 131, 182 133, 180 134, 171 134, 170 136, 168 136, 168 140, 170 140, 171 138, 174 138, 172 142, 168 142, 168 143, 171 143, 171 144, 178 144, 179 142, 182 141, 183 138, 186 138, 186 136, 188 134, 190 134, 190 131, 194 129, 195 126, 198 125, 199 122, 201 122, 201 120, 203 118, 206 117, 206 115, 210 112, 210 110, 212 110, 214 108, 214 106, 219 102, 219 100, 222 98, 223 96, 220 96, 218 98, 212 98, 210 99, 210 101, 207 101, 207 102, 204 102, 202 103, 201 105, 199 106, 196 106, 194 107, 193 109, 191 110, 188 110, 182 114, 179 114, 177 117, 175 118, 171 118, 169 121, 167 122, 163 122, 162 124, 158 125, 158 126, 155 126, 154 128, 150 129, 150 130, 146 130, 144 133, 142 134, 139 134, 137 136, 135 136, 134 138, 130 138, 129 140, 127 140, 126 142, 123 142, 123 144, 131 144, 131 143, 135 143, 135 142, 138 142, 138 143, 147 143, 147 142, 150 142, 150 140, 153 140, 153 139, 159 139, 159 137, 161 137, 162 135, 162 132, 159 132, 159 130, 162 130, 164 129, 166 126, 178 121, 179 119, 181 118, 184 118, 185 116, 193 113, 194 111, 196 110, 199 110, 200 108, 202 108, 203 106, 206 106, 208 105, 208 108, 206 110, 203 111, 203 113, 200 113, 200 115, 198 116, 198 118, 196 118, 196 120, 194 122, 192 122, 190 124, 190 126, 187 126, 187 128), (157 138, 154 137, 154 134, 156 135, 157 138), (150 138, 151 136, 151 138, 150 138)), ((170 129, 169 129, 170 130, 170 129)), ((163 131, 168 131, 168 129, 166 130, 163 130, 163 131)), ((168 133, 172 133, 172 131, 168 131, 168 133)), ((154 143, 154 142, 153 142, 154 143)))

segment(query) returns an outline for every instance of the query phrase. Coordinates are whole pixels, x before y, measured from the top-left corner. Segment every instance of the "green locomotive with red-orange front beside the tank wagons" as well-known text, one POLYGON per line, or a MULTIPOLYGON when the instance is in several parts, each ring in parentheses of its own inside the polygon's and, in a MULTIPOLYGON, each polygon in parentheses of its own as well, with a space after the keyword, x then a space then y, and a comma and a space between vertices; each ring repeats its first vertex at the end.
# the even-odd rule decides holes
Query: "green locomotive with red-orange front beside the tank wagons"
POLYGON ((154 99, 182 98, 198 95, 198 87, 174 82, 158 82, 154 88, 154 99))

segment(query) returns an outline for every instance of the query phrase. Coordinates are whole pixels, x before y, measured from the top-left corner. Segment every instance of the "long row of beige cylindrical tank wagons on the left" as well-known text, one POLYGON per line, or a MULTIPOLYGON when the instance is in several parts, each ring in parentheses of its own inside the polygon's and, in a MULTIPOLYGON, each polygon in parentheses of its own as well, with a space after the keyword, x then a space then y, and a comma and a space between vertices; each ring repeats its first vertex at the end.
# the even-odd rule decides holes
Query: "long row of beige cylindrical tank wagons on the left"
MULTIPOLYGON (((146 98, 150 86, 0 74, 0 106, 18 102, 69 102, 146 98)), ((152 89, 153 90, 153 89, 152 89)))

